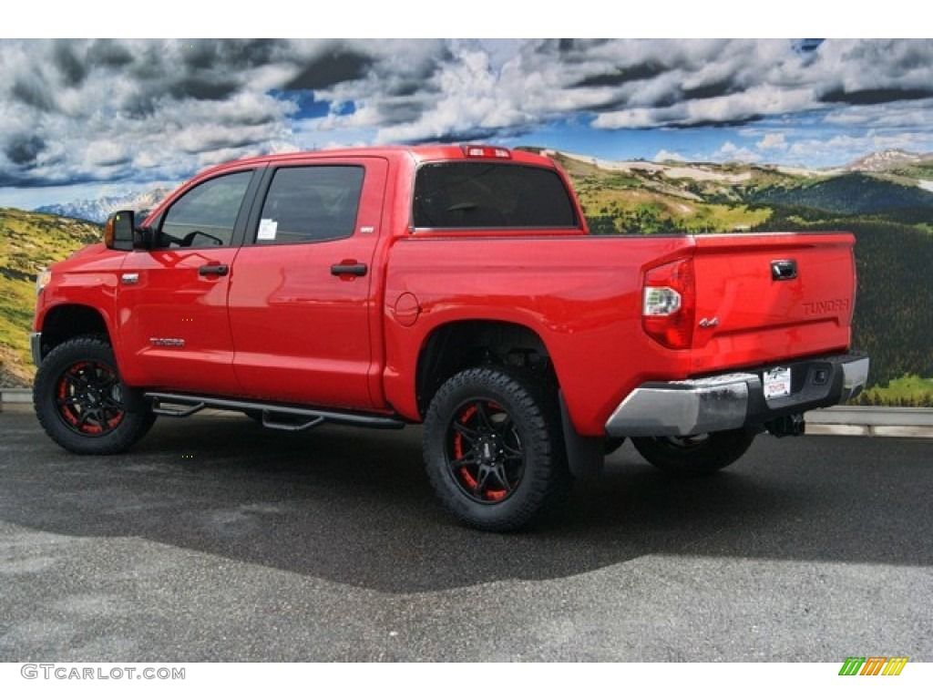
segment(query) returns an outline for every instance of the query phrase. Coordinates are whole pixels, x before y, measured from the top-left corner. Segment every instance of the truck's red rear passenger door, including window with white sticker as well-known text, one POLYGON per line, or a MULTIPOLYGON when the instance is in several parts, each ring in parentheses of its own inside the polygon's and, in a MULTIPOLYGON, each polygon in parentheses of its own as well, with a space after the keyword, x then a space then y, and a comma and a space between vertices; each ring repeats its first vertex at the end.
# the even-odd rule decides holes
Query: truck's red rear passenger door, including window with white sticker
POLYGON ((373 408, 372 262, 387 162, 288 161, 266 175, 229 293, 248 396, 373 408))

